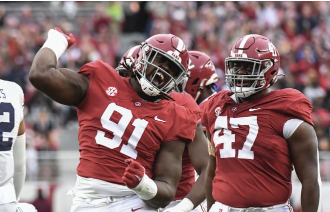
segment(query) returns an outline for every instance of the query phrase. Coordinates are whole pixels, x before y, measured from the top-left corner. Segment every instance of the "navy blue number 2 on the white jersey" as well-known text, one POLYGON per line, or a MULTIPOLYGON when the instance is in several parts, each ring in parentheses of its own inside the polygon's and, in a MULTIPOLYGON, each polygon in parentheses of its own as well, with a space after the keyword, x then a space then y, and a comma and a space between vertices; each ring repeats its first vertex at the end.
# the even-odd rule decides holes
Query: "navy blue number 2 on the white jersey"
POLYGON ((12 146, 12 138, 9 133, 14 128, 14 108, 11 103, 0 103, 0 151, 8 151, 12 146))

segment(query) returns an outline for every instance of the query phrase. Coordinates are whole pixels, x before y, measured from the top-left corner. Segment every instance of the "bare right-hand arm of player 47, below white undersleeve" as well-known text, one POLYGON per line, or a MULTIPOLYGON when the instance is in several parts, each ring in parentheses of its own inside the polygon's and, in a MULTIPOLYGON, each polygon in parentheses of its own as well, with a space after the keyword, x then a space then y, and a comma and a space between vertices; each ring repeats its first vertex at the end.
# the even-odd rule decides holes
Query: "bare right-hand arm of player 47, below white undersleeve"
POLYGON ((302 185, 302 212, 317 212, 319 184, 317 181, 317 139, 314 128, 303 122, 287 139, 291 160, 302 185))

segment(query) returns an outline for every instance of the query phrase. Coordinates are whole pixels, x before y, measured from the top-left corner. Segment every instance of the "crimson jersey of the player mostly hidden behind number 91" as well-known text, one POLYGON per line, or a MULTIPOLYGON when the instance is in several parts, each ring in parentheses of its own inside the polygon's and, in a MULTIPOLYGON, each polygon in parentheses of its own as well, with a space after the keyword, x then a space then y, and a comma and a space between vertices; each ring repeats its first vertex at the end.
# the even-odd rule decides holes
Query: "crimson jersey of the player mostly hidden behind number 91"
MULTIPOLYGON (((170 97, 175 100, 176 104, 182 105, 192 111, 196 115, 197 119, 200 120, 200 109, 190 94, 171 92, 170 97)), ((189 193, 192 185, 195 183, 194 171, 195 170, 189 159, 188 149, 185 147, 182 154, 182 174, 173 200, 182 200, 189 193)))

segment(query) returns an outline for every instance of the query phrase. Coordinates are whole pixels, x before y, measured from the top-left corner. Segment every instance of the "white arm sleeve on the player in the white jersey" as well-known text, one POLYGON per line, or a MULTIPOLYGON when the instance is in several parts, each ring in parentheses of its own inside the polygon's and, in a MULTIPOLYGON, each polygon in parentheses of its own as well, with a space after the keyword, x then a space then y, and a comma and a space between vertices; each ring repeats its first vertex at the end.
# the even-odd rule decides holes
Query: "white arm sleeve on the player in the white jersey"
POLYGON ((19 200, 19 194, 25 181, 25 133, 17 136, 12 147, 14 159, 13 183, 15 187, 16 200, 19 200))

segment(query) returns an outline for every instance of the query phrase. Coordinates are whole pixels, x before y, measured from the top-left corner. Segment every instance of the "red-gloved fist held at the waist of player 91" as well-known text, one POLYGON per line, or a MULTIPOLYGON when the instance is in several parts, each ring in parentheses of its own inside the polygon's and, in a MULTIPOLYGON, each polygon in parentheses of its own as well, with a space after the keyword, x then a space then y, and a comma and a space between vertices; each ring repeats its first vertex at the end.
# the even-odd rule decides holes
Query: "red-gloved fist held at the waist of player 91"
POLYGON ((145 169, 133 159, 126 159, 125 163, 127 167, 121 179, 129 189, 134 189, 141 182, 145 169))

